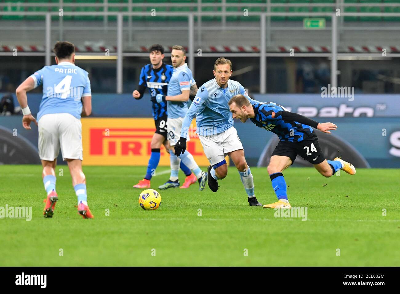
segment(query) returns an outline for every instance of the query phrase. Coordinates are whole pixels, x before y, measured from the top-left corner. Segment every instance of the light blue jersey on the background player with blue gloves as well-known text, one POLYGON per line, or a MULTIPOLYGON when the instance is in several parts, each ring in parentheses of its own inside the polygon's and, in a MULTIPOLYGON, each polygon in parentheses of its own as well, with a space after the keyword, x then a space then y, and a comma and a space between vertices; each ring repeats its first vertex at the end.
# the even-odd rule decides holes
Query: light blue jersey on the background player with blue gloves
MULTIPOLYGON (((188 68, 188 64, 183 64, 178 68, 174 68, 170 82, 168 83, 167 96, 176 96, 182 94, 184 90, 190 90, 190 86, 196 84, 192 71, 188 68)), ((167 112, 168 118, 184 117, 188 111, 188 102, 168 101, 167 112)))

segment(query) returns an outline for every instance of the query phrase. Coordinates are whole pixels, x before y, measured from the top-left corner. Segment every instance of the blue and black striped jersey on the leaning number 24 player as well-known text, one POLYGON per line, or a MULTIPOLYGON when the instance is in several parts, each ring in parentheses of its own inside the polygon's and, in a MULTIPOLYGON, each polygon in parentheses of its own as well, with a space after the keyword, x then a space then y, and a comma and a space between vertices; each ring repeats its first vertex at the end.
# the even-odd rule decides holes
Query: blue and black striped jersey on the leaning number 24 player
POLYGON ((315 136, 311 126, 292 120, 292 118, 307 120, 315 128, 318 122, 300 116, 300 114, 289 112, 279 104, 265 102, 253 104, 252 107, 254 109, 254 118, 250 118, 250 120, 256 126, 277 134, 281 141, 300 142, 315 136))

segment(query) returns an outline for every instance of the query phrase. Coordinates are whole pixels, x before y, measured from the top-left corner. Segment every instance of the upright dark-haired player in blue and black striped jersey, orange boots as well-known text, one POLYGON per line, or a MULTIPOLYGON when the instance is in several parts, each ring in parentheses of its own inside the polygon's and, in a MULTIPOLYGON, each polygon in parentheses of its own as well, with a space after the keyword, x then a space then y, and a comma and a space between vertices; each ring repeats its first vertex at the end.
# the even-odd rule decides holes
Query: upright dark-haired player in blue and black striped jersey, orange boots
MULTIPOLYGON (((150 64, 146 64, 140 71, 139 87, 134 90, 132 96, 135 99, 143 97, 146 88, 149 89, 151 96, 157 94, 167 94, 167 85, 171 79, 173 66, 162 62, 164 59, 164 47, 160 44, 154 44, 150 47, 150 64)), ((150 188, 150 180, 156 171, 158 163, 160 162, 160 148, 164 145, 165 150, 169 153, 167 141, 167 103, 152 103, 152 114, 154 123, 156 124, 156 132, 150 143, 151 155, 147 165, 146 175, 143 180, 134 185, 134 188, 150 188)), ((180 188, 188 188, 191 184, 197 181, 196 176, 192 171, 185 166, 182 162, 180 168, 184 171, 186 179, 180 188)))

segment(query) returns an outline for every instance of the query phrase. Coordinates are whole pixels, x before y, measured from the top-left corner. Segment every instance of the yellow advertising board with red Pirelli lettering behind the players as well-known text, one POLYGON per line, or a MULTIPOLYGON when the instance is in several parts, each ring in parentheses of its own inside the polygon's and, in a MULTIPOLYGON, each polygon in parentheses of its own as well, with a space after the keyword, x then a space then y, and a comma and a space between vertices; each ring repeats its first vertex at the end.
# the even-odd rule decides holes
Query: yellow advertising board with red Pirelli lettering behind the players
MULTIPOLYGON (((146 166, 150 142, 156 130, 152 118, 82 118, 84 165, 146 166)), ((193 121, 192 126, 196 126, 193 121)), ((199 138, 192 134, 187 150, 199 166, 209 165, 199 138)), ((161 166, 170 165, 170 155, 161 147, 161 166)))

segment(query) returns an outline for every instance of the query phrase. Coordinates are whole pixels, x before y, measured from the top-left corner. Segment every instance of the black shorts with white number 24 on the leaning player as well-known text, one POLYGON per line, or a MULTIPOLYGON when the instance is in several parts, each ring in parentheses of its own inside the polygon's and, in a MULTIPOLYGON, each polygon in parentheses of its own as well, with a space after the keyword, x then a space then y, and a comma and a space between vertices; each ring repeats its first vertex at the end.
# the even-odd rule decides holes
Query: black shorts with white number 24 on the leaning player
POLYGON ((272 156, 274 155, 288 156, 292 160, 292 164, 297 155, 300 155, 311 164, 320 164, 325 160, 316 136, 300 142, 279 141, 274 152, 272 152, 272 156))

